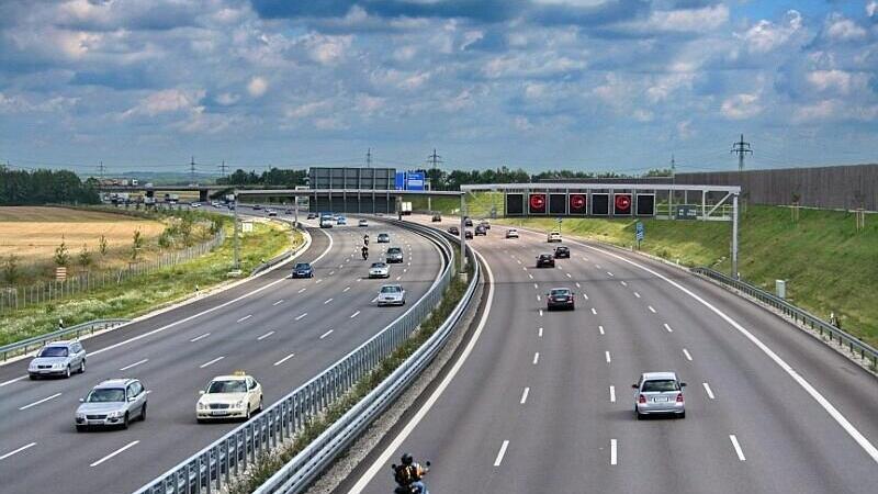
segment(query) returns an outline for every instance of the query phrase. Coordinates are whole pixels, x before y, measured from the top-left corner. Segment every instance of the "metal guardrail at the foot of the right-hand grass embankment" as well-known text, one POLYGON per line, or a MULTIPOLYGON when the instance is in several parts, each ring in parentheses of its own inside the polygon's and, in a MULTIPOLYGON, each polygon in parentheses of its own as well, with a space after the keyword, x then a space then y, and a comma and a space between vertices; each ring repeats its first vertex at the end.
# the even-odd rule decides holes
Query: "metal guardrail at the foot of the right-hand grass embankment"
POLYGON ((797 324, 808 326, 818 332, 822 338, 829 338, 830 343, 837 341, 841 347, 847 348, 852 356, 858 357, 864 362, 870 362, 873 370, 878 370, 878 350, 869 346, 862 339, 845 333, 837 327, 826 323, 815 315, 804 311, 779 296, 754 287, 745 281, 735 280, 719 271, 710 268, 691 268, 691 272, 711 279, 725 287, 731 287, 768 306, 780 311, 784 315, 791 317, 797 324))

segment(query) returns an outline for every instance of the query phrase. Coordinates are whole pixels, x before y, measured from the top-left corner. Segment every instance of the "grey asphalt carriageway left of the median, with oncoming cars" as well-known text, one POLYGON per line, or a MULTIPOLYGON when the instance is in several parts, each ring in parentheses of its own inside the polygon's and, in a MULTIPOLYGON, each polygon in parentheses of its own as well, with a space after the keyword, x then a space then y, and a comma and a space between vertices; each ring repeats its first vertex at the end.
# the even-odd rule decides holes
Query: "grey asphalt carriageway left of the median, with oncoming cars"
POLYGON ((0 367, 0 492, 125 493, 164 473, 238 423, 196 424, 199 390, 218 374, 244 369, 262 383, 269 406, 319 373, 405 307, 378 307, 379 287, 403 283, 408 302, 440 272, 438 248, 408 231, 309 227, 309 249, 296 261, 315 266, 313 279, 288 279, 291 263, 236 288, 206 296, 124 329, 85 340, 85 374, 30 381, 27 361, 0 367), (365 279, 362 235, 391 234, 370 244, 370 262, 401 246, 405 262, 390 280, 365 279), (98 382, 140 379, 148 414, 127 430, 77 433, 78 400, 98 382))

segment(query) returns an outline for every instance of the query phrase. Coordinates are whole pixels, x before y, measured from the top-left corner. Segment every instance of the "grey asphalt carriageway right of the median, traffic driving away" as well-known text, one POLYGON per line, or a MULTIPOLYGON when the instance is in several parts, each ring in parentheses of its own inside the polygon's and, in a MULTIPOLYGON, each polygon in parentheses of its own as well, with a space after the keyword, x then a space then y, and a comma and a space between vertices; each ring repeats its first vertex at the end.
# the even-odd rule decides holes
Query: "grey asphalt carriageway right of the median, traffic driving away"
POLYGON ((865 370, 676 268, 567 240, 536 269, 545 235, 505 229, 471 244, 493 281, 474 341, 336 492, 392 492, 403 452, 432 462, 434 493, 875 492, 865 370), (575 312, 545 311, 555 287, 575 312), (686 418, 637 420, 631 384, 665 370, 686 418))

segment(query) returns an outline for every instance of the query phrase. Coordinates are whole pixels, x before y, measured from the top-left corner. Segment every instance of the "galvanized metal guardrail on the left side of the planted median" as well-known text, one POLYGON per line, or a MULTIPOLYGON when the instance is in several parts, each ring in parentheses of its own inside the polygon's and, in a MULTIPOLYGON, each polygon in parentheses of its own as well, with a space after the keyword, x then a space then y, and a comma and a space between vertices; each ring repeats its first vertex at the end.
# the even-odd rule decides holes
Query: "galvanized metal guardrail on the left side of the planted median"
MULTIPOLYGON (((417 228, 416 228, 417 229, 417 228)), ((427 293, 384 329, 347 356, 293 390, 247 423, 140 487, 135 494, 201 494, 217 492, 234 475, 278 445, 292 439, 385 357, 406 341, 439 304, 454 277, 453 252, 438 232, 425 228, 446 259, 444 268, 427 293)))

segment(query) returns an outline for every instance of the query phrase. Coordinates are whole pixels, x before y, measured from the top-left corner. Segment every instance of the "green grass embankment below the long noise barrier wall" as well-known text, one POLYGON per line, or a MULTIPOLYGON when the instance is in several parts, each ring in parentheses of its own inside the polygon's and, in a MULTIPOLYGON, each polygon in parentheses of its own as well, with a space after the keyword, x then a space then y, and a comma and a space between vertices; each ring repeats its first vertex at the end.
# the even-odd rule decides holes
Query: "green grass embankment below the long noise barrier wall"
MULTIPOLYGON (((751 205, 741 218, 741 277, 774 292, 787 280, 787 299, 824 319, 841 314, 844 330, 878 346, 878 216, 857 233, 853 213, 751 205)), ((730 271, 731 225, 642 218, 642 250, 686 266, 730 271)), ((498 223, 555 228, 554 218, 506 218, 498 223)), ((565 218, 564 235, 622 247, 634 243, 634 220, 565 218)))

